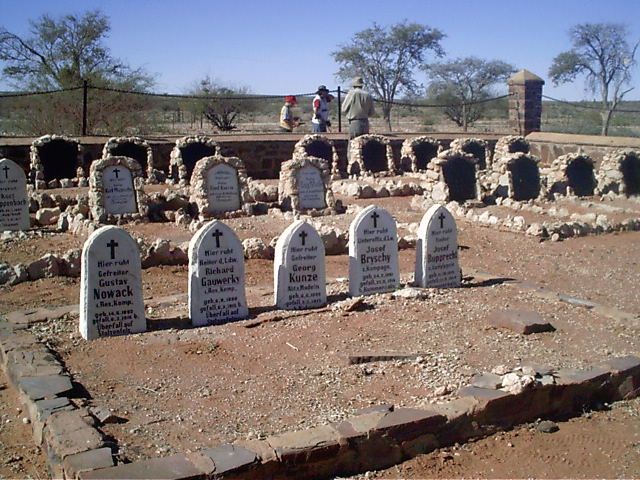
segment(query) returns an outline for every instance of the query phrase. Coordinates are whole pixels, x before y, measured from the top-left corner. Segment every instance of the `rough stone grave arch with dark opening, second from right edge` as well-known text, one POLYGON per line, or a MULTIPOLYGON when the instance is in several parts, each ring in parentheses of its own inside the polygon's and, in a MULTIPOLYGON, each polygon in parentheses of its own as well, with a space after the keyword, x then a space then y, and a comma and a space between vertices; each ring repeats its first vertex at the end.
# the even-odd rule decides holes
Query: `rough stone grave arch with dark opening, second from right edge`
POLYGON ((560 195, 593 195, 596 186, 594 166, 594 160, 583 153, 568 153, 557 157, 544 171, 548 192, 560 195))

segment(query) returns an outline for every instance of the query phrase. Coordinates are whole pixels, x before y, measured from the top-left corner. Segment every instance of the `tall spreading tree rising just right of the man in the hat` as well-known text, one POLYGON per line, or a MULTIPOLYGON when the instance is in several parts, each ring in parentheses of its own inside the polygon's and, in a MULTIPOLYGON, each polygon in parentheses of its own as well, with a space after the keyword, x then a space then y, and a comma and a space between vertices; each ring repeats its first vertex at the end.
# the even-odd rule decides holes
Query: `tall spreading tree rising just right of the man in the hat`
POLYGON ((356 33, 348 44, 332 52, 343 80, 361 75, 365 84, 382 100, 382 114, 391 130, 391 108, 398 93, 415 93, 414 70, 424 63, 427 51, 444 55, 444 34, 427 25, 406 20, 388 28, 374 23, 356 33))

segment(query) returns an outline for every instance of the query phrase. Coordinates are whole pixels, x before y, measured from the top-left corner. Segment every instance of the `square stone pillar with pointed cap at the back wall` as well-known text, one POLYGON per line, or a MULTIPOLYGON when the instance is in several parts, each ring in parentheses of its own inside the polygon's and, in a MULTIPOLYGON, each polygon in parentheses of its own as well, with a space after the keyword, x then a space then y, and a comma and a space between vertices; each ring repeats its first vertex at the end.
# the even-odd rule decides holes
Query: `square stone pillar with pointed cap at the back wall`
POLYGON ((509 79, 509 130, 526 136, 540 131, 542 80, 529 70, 520 70, 509 79))

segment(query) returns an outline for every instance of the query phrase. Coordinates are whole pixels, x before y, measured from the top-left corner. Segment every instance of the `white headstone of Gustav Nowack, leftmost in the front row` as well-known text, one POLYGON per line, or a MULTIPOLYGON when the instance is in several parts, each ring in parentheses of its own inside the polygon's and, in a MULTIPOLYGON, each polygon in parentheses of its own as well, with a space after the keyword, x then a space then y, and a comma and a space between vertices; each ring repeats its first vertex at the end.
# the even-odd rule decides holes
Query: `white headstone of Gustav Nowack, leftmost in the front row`
POLYGON ((82 249, 80 333, 93 340, 146 329, 138 244, 121 228, 99 228, 82 249))

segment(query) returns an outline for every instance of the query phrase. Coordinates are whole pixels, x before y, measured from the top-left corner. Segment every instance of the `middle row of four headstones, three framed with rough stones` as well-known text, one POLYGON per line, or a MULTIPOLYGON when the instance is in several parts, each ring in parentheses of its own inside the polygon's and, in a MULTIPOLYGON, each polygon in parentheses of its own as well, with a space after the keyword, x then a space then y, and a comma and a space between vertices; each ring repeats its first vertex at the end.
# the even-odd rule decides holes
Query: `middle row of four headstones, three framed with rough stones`
MULTIPOLYGON (((280 190, 295 200, 292 207, 296 210, 334 206, 326 161, 291 160, 283 164, 281 175, 280 190)), ((93 217, 104 222, 109 215, 144 215, 141 177, 140 165, 128 157, 94 162, 89 190, 93 217)), ((239 210, 248 200, 246 171, 240 159, 205 157, 196 165, 194 178, 191 199, 205 216, 239 210)), ((11 160, 0 159, 0 231, 29 228, 28 207, 23 170, 11 160)))

